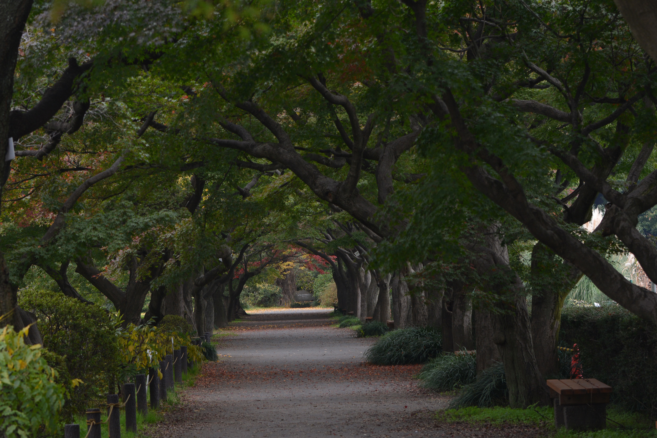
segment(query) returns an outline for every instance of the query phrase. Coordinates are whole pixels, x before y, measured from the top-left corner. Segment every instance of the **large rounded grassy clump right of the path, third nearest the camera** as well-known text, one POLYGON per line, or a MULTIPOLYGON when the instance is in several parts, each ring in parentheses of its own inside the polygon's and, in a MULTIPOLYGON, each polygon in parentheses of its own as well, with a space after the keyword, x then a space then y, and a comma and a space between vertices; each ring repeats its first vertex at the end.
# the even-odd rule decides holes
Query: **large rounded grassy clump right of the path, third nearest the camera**
POLYGON ((435 327, 409 327, 382 336, 365 351, 375 365, 424 363, 442 353, 442 334, 435 327))

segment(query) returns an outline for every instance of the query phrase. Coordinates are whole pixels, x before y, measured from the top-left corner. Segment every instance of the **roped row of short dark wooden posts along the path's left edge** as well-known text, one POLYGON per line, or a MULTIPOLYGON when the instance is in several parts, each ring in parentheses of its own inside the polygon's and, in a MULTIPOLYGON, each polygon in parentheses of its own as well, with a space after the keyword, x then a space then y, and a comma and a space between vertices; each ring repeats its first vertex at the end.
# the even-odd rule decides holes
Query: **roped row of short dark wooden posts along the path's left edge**
MULTIPOLYGON (((206 332, 202 338, 192 338, 194 345, 200 345, 202 341, 210 342, 210 332, 206 332)), ((101 409, 87 409, 87 436, 86 438, 101 438, 101 425, 107 424, 108 437, 121 438, 121 408, 125 408, 125 430, 137 431, 137 411, 146 415, 148 403, 146 391, 150 393, 150 407, 156 409, 160 406, 160 400, 167 399, 167 391, 175 391, 175 383, 183 383, 183 374, 187 374, 187 367, 193 366, 194 362, 187 358, 187 347, 173 350, 173 355, 164 356, 164 361, 159 361, 162 378, 156 368, 148 370, 148 379, 145 374, 137 374, 135 383, 124 383, 124 403, 119 402, 118 394, 107 395, 107 420, 101 422, 101 409), (136 388, 136 389, 135 389, 136 388)), ((79 424, 64 425, 64 438, 79 438, 79 424)))

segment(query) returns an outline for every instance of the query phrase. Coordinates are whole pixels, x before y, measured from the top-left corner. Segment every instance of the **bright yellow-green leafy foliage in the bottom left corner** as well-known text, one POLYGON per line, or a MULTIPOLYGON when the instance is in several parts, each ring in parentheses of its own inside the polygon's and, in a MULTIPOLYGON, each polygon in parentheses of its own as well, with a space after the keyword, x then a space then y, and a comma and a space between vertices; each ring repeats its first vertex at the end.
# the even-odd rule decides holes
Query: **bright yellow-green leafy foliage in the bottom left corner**
POLYGON ((28 438, 41 427, 55 432, 65 390, 57 372, 41 357, 41 345, 26 345, 29 328, 0 333, 0 434, 28 438))

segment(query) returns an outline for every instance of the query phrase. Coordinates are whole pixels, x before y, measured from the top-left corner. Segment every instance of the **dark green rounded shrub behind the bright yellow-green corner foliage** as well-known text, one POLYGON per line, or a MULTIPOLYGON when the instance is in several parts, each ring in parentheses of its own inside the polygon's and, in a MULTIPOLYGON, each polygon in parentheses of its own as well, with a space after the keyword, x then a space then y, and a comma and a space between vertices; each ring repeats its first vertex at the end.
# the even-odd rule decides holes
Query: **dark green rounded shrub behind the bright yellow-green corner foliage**
POLYGON ((87 305, 61 292, 28 291, 20 306, 37 315, 43 346, 66 359, 73 388, 64 412, 80 412, 89 403, 104 403, 120 372, 116 320, 97 305, 87 305))

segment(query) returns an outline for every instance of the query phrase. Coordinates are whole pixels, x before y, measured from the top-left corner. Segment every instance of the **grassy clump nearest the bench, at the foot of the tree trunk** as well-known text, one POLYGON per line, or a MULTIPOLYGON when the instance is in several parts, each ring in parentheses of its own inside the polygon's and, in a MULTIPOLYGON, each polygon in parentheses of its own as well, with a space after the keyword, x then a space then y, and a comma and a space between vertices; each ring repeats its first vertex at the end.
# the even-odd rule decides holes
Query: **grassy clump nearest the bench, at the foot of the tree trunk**
POLYGON ((478 380, 465 385, 457 396, 449 403, 449 409, 464 406, 506 405, 509 400, 507 377, 504 374, 504 364, 497 362, 482 371, 478 380))

